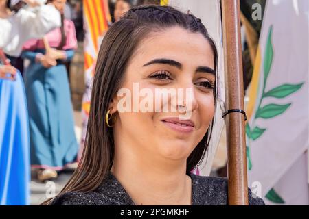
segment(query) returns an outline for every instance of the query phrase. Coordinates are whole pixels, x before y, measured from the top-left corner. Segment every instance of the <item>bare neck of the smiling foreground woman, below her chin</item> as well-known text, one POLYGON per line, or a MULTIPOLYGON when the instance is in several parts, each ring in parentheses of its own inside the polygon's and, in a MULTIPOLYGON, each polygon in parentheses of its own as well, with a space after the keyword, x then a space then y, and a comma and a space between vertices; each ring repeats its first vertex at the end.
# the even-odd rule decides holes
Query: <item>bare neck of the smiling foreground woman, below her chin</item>
POLYGON ((116 144, 111 172, 136 205, 192 205, 186 162, 164 163, 153 155, 138 155, 127 143, 116 144))

